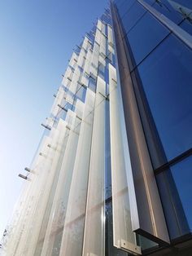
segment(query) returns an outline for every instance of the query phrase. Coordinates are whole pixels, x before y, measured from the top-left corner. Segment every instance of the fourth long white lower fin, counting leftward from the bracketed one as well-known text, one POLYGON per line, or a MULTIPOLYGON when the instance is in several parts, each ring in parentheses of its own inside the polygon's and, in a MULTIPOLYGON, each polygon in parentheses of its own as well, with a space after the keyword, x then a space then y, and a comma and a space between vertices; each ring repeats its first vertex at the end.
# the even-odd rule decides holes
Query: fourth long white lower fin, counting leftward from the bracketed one
POLYGON ((81 121, 73 118, 72 129, 68 130, 68 143, 63 157, 59 182, 55 190, 55 197, 50 212, 49 223, 46 229, 45 241, 41 256, 59 255, 63 224, 68 204, 68 194, 72 181, 72 171, 76 157, 76 147, 79 139, 81 121), (75 120, 75 122, 74 122, 75 120), (65 184, 63 186, 63 184, 65 184))

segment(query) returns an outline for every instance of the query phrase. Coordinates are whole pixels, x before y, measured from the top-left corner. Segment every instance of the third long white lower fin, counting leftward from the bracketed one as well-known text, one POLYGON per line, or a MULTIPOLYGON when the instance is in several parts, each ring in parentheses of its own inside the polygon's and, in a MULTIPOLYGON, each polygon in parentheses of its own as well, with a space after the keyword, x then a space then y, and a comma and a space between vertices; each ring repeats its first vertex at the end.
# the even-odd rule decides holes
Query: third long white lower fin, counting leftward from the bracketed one
POLYGON ((87 89, 60 255, 81 256, 82 254, 89 157, 94 118, 94 98, 94 92, 87 89))

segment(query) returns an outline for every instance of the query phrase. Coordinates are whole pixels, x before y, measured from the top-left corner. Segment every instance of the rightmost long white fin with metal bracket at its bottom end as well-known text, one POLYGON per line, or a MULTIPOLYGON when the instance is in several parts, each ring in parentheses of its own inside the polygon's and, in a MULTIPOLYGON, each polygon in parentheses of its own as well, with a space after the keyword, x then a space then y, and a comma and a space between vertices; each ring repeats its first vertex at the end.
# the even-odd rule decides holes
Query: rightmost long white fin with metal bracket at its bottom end
POLYGON ((116 68, 109 66, 110 88, 110 136, 111 136, 111 182, 113 205, 113 243, 117 248, 127 247, 141 254, 132 231, 129 188, 126 177, 124 148, 120 128, 120 109, 116 84, 116 68), (125 246, 124 246, 125 244, 125 246))

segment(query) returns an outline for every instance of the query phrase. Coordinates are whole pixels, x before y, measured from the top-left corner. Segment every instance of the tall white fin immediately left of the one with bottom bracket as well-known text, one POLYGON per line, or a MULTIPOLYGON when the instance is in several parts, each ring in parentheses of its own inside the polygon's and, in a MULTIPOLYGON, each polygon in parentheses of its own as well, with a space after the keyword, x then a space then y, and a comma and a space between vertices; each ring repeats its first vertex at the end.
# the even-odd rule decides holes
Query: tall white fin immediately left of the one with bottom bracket
POLYGON ((98 77, 82 255, 105 255, 105 82, 98 77))

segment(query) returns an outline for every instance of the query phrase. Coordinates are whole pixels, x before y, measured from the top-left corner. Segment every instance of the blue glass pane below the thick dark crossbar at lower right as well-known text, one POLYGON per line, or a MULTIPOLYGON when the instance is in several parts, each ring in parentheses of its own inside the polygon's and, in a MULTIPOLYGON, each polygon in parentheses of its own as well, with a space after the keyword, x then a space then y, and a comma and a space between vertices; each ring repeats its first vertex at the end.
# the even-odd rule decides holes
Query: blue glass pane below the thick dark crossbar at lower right
POLYGON ((157 175, 159 192, 172 238, 192 231, 191 180, 192 157, 157 175))

